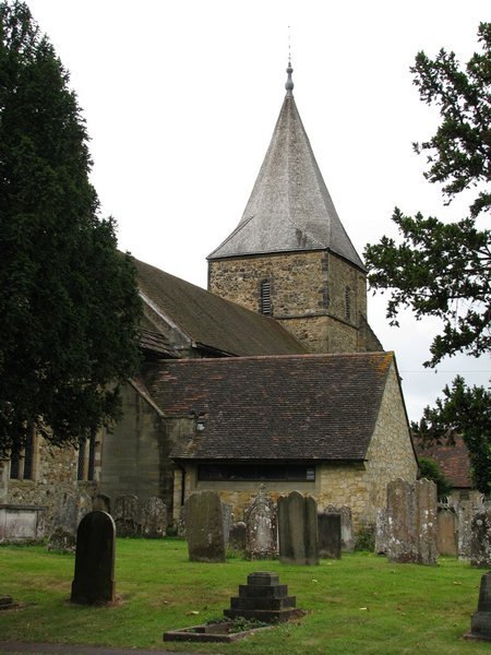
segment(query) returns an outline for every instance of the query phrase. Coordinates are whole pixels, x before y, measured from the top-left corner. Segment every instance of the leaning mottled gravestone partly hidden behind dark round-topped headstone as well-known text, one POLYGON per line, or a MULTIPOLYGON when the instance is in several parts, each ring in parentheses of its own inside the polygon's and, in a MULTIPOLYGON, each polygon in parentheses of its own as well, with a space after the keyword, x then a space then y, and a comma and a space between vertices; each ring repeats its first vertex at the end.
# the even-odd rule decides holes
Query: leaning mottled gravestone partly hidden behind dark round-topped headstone
POLYGON ((87 493, 62 493, 55 513, 48 550, 74 552, 76 528, 82 517, 91 511, 92 499, 87 493))

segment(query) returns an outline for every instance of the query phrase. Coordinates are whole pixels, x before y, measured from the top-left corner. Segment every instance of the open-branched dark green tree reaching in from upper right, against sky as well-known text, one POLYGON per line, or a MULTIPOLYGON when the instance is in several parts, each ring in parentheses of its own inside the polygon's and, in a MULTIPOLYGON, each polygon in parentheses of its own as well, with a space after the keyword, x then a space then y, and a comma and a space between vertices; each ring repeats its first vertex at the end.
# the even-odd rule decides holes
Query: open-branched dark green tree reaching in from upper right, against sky
POLYGON ((470 215, 444 224, 396 209, 393 221, 402 243, 384 236, 364 253, 371 287, 391 289, 391 324, 398 324, 400 307, 410 307, 417 319, 442 319, 426 366, 446 355, 480 356, 491 348, 490 230, 477 224, 491 207, 491 23, 481 23, 478 40, 482 52, 472 56, 466 72, 454 52, 443 49, 434 60, 420 52, 411 68, 421 99, 436 104, 442 117, 432 139, 414 144, 417 153, 429 153, 424 177, 444 184, 446 203, 477 189, 470 215))

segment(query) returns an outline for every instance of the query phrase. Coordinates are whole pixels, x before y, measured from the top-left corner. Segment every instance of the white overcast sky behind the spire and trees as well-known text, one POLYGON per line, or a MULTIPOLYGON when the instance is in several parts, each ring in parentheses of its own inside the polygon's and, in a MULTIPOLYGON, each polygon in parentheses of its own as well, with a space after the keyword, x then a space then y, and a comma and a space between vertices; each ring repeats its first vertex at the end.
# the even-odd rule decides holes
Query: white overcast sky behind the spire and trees
MULTIPOLYGON (((433 134, 409 67, 441 47, 466 62, 489 0, 31 0, 70 71, 87 121, 93 182, 119 246, 206 287, 206 255, 236 227, 285 95, 290 33, 295 97, 339 217, 361 254, 395 236, 394 206, 448 221, 411 143, 433 134), (288 28, 290 26, 290 28, 288 28)), ((489 357, 423 369, 435 325, 369 321, 396 352, 411 419, 457 372, 487 384, 489 357)))

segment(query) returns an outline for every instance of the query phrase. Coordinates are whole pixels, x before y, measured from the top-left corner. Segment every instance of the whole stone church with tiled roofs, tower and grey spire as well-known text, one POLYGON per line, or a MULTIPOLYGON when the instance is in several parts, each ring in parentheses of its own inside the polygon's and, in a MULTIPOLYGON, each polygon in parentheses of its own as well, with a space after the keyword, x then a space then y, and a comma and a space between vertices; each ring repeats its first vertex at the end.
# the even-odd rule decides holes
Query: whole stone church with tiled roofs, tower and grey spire
POLYGON ((242 218, 207 257, 208 289, 134 260, 143 365, 123 418, 75 452, 34 434, 21 465, 0 463, 0 540, 20 516, 40 534, 61 493, 156 496, 176 523, 202 489, 241 520, 260 485, 348 505, 357 529, 388 481, 416 479, 396 359, 368 322, 367 272, 291 73, 242 218))

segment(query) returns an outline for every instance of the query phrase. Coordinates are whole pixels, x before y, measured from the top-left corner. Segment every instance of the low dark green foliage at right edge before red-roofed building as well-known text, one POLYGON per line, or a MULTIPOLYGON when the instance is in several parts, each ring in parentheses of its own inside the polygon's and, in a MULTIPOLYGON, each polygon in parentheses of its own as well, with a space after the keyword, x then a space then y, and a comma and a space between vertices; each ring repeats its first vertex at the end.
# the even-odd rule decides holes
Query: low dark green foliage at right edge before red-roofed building
POLYGON ((469 452, 472 483, 482 493, 491 491, 491 392, 483 386, 468 388, 457 376, 452 389, 445 386, 444 397, 435 407, 426 407, 412 432, 422 442, 445 442, 455 445, 462 434, 469 452))

